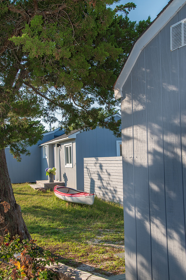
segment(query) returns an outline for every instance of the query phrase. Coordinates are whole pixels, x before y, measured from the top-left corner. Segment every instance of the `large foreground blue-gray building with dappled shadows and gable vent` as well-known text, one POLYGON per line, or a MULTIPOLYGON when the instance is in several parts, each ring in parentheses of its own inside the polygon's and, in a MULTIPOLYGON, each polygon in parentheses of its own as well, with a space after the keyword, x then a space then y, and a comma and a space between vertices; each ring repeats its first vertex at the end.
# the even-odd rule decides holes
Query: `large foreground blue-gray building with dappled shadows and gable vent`
POLYGON ((186 279, 186 1, 135 42, 121 99, 127 280, 186 279))

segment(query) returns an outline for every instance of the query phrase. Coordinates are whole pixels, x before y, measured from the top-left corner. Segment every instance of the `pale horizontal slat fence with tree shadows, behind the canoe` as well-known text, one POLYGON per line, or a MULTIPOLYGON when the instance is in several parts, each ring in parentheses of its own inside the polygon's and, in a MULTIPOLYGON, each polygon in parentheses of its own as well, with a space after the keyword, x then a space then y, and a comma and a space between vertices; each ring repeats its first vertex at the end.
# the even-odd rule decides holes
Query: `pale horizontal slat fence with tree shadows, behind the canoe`
POLYGON ((123 205, 122 157, 84 158, 84 190, 123 205))

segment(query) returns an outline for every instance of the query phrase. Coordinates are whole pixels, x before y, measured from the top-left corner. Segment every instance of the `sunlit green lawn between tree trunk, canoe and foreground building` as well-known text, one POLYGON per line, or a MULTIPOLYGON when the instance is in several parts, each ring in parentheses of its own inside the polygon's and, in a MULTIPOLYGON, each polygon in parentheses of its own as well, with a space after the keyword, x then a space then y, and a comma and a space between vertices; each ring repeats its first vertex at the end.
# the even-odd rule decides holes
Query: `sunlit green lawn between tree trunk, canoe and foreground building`
MULTIPOLYGON (((32 189, 27 183, 13 184, 17 204, 37 244, 58 260, 93 274, 125 273, 123 207, 95 197, 93 205, 70 204, 53 191, 32 189)), ((104 277, 104 276, 103 276, 104 277)))

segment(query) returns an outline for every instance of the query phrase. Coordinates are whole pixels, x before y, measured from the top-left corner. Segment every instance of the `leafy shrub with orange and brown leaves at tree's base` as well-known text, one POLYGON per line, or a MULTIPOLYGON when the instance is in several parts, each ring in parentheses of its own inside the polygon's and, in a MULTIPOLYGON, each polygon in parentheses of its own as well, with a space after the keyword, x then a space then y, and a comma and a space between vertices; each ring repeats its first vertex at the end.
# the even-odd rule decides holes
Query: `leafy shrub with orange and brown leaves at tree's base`
POLYGON ((45 268, 46 264, 54 264, 49 251, 42 250, 34 240, 23 240, 19 236, 10 240, 10 234, 0 236, 0 258, 8 262, 6 272, 0 270, 0 280, 50 280, 54 276, 45 268))

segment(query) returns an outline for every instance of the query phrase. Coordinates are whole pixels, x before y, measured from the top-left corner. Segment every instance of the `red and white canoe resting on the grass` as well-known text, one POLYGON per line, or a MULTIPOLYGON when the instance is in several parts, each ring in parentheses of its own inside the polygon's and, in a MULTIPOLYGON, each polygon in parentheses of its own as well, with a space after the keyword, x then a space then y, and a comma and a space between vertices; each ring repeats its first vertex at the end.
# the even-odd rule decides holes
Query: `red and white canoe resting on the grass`
POLYGON ((67 202, 92 205, 94 203, 94 193, 86 193, 68 187, 55 186, 54 194, 67 202))

